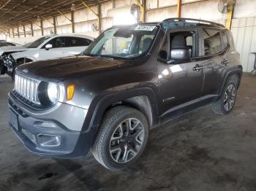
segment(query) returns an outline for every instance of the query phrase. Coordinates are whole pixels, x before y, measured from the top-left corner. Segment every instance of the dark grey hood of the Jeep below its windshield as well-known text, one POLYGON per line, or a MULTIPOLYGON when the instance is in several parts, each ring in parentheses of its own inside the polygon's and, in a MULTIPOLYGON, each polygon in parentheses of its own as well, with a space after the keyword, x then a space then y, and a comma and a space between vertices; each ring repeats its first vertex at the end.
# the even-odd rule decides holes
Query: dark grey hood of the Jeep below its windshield
POLYGON ((118 68, 130 61, 116 61, 108 58, 94 58, 89 56, 72 56, 37 61, 18 66, 16 71, 40 80, 60 81, 66 77, 79 74, 92 74, 100 70, 118 68))

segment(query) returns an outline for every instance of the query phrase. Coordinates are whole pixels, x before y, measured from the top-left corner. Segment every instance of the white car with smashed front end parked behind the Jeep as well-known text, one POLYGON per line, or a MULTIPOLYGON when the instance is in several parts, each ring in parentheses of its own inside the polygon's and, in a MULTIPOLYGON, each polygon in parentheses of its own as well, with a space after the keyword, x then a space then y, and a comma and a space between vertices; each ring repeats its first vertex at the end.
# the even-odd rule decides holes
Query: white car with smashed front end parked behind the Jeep
POLYGON ((52 35, 41 38, 20 47, 0 48, 1 74, 14 77, 14 69, 22 63, 42 61, 51 58, 78 55, 91 44, 94 38, 85 35, 52 35))

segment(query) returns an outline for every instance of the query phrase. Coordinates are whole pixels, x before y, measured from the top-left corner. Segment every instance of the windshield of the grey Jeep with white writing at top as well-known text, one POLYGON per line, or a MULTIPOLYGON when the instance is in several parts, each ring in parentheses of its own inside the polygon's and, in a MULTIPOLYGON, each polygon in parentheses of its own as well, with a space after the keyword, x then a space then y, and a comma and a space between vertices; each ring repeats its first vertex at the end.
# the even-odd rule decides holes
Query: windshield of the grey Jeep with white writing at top
POLYGON ((157 26, 117 26, 101 34, 85 51, 85 55, 109 58, 135 58, 148 52, 157 26))

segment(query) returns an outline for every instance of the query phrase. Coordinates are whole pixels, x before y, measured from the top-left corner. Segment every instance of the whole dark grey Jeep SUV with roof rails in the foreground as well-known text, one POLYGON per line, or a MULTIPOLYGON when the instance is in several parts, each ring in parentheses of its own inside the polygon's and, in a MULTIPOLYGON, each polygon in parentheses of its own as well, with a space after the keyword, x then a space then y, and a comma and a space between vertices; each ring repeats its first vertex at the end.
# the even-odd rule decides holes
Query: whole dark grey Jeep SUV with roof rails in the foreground
POLYGON ((38 155, 81 157, 91 149, 118 170, 140 157, 160 123, 209 103, 228 114, 241 74, 233 37, 218 23, 113 26, 84 55, 19 66, 10 126, 38 155))

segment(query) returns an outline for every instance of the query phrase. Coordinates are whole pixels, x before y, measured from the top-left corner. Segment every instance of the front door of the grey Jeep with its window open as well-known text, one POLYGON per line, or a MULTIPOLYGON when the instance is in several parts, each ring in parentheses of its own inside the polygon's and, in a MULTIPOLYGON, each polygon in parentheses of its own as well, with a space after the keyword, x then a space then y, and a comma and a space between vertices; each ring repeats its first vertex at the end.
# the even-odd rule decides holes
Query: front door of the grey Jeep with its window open
POLYGON ((198 54, 197 31, 170 32, 165 38, 158 60, 159 114, 165 115, 189 101, 200 98, 204 61, 193 61, 198 54), (191 59, 173 60, 172 50, 187 49, 191 59), (168 55, 165 52, 170 52, 168 55))

